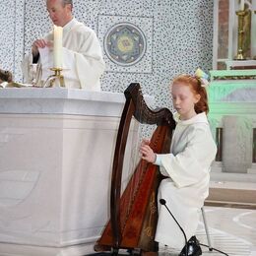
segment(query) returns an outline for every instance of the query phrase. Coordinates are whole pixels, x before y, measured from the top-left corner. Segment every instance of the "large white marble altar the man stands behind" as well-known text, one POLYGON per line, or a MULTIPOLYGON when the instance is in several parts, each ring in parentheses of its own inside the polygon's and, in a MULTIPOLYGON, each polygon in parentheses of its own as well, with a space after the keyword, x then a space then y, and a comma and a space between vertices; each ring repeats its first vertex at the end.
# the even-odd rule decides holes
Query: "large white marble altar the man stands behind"
MULTIPOLYGON (((109 219, 124 101, 62 88, 0 90, 0 255, 93 252, 109 219)), ((132 122, 125 166, 137 141, 132 122)))

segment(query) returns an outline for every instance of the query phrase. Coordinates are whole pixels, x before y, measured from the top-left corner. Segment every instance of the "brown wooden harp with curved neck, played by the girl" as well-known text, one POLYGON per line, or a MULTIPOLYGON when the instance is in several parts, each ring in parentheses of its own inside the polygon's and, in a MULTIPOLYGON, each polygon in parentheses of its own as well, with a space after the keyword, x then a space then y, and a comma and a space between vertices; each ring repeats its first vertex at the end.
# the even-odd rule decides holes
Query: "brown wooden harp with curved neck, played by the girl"
POLYGON ((154 241, 158 221, 157 190, 162 176, 158 166, 140 160, 121 195, 121 178, 125 146, 131 119, 140 123, 156 124, 150 146, 155 153, 168 153, 175 122, 167 108, 151 110, 142 94, 140 85, 131 84, 124 92, 123 108, 114 152, 110 194, 110 221, 106 224, 95 250, 141 249, 156 251, 154 241))

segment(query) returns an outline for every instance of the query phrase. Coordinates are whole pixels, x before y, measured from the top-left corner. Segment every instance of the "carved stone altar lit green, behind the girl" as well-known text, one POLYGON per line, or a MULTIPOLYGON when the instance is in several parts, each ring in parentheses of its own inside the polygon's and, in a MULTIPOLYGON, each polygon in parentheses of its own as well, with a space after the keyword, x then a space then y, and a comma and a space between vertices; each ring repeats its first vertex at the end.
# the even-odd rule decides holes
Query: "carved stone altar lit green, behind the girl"
MULTIPOLYGON (((256 71, 213 70, 209 121, 218 146, 212 170, 256 174, 256 71)), ((242 181, 242 180, 240 180, 242 181)))

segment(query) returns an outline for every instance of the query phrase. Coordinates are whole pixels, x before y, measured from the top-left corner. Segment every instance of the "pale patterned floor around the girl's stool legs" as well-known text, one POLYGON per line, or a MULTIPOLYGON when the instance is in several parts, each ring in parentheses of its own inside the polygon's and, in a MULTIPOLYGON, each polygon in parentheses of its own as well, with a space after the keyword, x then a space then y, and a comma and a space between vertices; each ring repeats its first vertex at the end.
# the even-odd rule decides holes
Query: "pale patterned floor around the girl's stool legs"
MULTIPOLYGON (((256 210, 221 207, 205 207, 212 246, 232 256, 256 256, 256 210)), ((197 230, 197 238, 207 243, 203 222, 197 230)), ((224 255, 203 247, 203 255, 224 255)), ((168 247, 160 246, 160 255, 177 255, 168 247)))

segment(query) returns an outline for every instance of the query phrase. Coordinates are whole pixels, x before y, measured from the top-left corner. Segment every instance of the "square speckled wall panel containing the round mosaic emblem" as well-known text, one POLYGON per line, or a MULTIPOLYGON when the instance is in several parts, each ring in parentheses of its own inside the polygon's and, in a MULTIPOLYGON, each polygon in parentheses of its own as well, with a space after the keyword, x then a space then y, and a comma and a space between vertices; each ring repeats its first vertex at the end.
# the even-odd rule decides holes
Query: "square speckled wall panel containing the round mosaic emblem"
POLYGON ((106 71, 152 73, 153 18, 98 15, 106 71))

